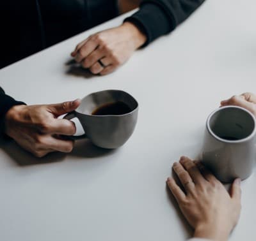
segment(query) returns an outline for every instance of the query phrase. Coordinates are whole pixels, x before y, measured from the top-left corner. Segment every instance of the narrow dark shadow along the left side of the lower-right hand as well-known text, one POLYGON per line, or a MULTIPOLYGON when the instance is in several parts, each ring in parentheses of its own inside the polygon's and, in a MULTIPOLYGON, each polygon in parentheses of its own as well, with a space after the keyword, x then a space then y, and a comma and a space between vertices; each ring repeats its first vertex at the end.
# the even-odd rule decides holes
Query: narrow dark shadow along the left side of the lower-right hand
MULTIPOLYGON (((181 184, 180 184, 179 180, 177 180, 177 177, 176 177, 175 173, 172 173, 172 177, 175 179, 177 184, 181 187, 181 184)), ((175 210, 177 212, 177 215, 179 216, 180 223, 183 224, 184 230, 186 231, 186 233, 188 233, 188 238, 191 238, 193 236, 193 229, 191 228, 191 226, 189 226, 188 221, 186 221, 184 215, 180 211, 179 205, 178 205, 177 201, 175 200, 173 194, 170 192, 170 189, 167 186, 167 184, 166 184, 166 193, 168 195, 170 205, 172 205, 172 207, 175 208, 175 210)))

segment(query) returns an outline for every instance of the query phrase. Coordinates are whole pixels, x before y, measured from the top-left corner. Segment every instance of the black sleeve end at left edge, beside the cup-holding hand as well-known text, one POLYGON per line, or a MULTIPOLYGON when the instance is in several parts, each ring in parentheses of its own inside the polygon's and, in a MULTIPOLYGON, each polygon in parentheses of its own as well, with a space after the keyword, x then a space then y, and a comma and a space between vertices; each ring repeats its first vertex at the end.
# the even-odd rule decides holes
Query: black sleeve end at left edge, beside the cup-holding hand
POLYGON ((26 105, 23 102, 15 101, 11 96, 4 93, 4 90, 0 87, 0 136, 4 134, 4 117, 5 114, 14 105, 26 105))

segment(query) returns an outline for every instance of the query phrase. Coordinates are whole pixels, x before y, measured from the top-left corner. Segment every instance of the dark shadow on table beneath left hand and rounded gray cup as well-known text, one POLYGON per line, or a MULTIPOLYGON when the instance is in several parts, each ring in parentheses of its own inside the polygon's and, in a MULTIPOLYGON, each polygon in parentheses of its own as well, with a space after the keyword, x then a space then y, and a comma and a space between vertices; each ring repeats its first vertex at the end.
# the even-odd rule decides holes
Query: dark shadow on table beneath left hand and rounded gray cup
POLYGON ((1 139, 0 148, 3 149, 4 152, 6 152, 6 154, 8 154, 8 156, 10 156, 19 166, 57 163, 63 161, 66 156, 84 157, 84 159, 86 159, 106 156, 115 152, 115 150, 96 147, 90 140, 77 140, 74 149, 68 154, 53 152, 41 158, 33 156, 12 140, 1 139))

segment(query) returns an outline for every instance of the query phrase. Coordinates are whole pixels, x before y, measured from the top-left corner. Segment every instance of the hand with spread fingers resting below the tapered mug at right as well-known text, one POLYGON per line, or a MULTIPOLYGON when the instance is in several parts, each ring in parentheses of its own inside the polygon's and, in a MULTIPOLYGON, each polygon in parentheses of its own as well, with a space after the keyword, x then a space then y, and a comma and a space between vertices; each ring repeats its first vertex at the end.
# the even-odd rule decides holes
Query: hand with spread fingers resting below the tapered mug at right
POLYGON ((195 229, 194 237, 227 240, 240 215, 240 179, 234 180, 228 194, 211 172, 188 157, 180 157, 173 170, 184 191, 172 177, 167 179, 167 184, 182 214, 195 229))

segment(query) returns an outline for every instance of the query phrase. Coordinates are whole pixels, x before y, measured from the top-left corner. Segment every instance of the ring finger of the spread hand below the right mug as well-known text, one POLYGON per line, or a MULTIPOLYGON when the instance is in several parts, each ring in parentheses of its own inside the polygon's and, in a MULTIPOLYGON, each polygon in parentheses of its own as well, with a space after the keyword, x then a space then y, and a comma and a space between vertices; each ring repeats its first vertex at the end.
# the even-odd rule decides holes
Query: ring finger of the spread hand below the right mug
POLYGON ((191 191, 195 187, 195 184, 191 179, 189 173, 180 163, 174 163, 173 170, 179 177, 179 180, 186 191, 191 191))

